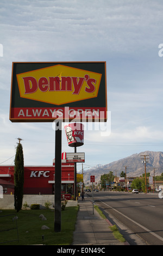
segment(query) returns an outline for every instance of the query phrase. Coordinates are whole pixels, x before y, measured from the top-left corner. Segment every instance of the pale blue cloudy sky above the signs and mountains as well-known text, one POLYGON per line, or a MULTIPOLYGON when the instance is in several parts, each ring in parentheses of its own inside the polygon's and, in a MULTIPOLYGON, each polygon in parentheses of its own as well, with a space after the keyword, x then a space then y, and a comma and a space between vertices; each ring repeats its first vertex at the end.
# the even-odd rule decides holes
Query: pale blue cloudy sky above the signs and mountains
POLYGON ((106 62, 107 132, 84 131, 83 168, 163 151, 162 13, 162 0, 1 0, 0 164, 14 164, 17 138, 24 165, 55 156, 53 123, 9 120, 12 62, 106 62))

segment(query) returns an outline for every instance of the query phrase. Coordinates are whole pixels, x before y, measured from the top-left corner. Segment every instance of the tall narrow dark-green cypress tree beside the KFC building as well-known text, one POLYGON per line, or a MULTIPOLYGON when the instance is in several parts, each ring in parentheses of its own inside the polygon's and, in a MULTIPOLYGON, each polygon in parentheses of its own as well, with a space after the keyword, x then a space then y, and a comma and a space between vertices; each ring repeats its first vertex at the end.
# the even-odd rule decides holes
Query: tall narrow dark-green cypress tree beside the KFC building
POLYGON ((24 185, 24 157, 22 144, 19 142, 16 148, 14 167, 14 206, 18 212, 22 208, 24 185))

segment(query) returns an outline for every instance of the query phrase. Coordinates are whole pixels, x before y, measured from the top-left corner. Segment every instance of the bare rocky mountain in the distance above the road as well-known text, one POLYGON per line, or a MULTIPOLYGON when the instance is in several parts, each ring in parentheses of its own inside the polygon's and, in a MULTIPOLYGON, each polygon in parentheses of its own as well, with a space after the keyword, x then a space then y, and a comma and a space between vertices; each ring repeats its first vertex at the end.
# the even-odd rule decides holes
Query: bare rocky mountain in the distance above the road
POLYGON ((163 152, 155 151, 145 151, 139 154, 133 154, 131 156, 125 157, 118 161, 114 161, 105 165, 98 164, 95 168, 84 171, 84 184, 90 182, 90 175, 95 175, 95 181, 99 182, 102 174, 113 172, 114 175, 120 176, 120 173, 123 171, 127 173, 128 177, 137 177, 145 173, 145 164, 142 163, 146 155, 146 172, 151 173, 151 176, 160 175, 163 173, 163 152), (126 170, 125 170, 126 166, 126 170))

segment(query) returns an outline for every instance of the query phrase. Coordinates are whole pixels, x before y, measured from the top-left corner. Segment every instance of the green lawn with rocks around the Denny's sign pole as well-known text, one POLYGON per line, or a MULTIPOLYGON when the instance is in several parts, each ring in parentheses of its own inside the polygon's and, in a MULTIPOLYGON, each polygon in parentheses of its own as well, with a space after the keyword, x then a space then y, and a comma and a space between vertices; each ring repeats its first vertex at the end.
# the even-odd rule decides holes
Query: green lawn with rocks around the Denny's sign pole
POLYGON ((55 232, 54 211, 51 209, 21 210, 20 212, 16 212, 15 210, 2 210, 2 212, 0 212, 0 245, 71 245, 77 213, 78 206, 66 207, 64 211, 61 211, 61 231, 55 232), (15 214, 18 217, 17 221, 12 220, 15 214), (41 214, 47 218, 46 221, 42 221, 41 218, 39 218, 41 214), (42 230, 42 225, 47 225, 49 229, 42 230), (8 230, 1 231, 4 229, 8 230), (6 242, 17 240, 17 230, 18 241, 6 242))

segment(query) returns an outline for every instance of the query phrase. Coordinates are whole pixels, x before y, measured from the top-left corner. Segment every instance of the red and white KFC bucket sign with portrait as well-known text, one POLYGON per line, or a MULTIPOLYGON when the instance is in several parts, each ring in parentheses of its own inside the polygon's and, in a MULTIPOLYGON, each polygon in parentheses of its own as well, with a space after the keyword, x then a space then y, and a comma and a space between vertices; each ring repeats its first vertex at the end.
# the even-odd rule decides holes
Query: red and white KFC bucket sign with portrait
POLYGON ((68 146, 79 147, 84 144, 84 125, 73 123, 65 125, 68 146))

